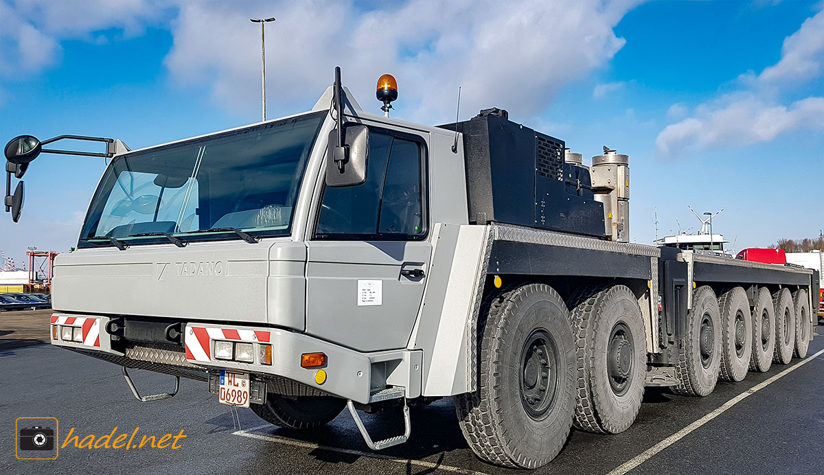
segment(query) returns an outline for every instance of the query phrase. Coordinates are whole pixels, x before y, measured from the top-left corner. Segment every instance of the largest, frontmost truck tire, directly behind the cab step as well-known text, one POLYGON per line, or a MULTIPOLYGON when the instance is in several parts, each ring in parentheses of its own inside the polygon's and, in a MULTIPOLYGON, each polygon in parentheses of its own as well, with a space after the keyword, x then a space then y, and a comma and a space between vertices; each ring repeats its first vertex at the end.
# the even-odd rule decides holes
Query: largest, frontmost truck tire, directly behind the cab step
POLYGON ((564 300, 545 284, 503 291, 485 302, 478 333, 478 389, 455 398, 466 443, 503 467, 549 463, 575 411, 575 347, 564 300))

